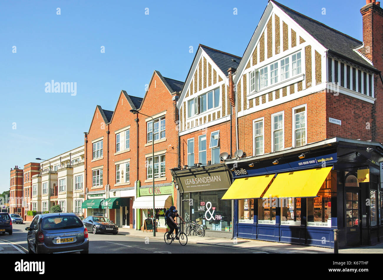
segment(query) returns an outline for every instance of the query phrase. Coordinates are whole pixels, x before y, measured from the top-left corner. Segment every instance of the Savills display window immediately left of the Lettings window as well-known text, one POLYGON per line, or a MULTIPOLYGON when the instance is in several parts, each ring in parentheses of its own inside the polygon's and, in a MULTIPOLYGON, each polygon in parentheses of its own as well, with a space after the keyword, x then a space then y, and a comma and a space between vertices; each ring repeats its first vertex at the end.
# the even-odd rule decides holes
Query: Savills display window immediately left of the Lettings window
POLYGON ((281 199, 281 225, 301 225, 301 198, 281 199))

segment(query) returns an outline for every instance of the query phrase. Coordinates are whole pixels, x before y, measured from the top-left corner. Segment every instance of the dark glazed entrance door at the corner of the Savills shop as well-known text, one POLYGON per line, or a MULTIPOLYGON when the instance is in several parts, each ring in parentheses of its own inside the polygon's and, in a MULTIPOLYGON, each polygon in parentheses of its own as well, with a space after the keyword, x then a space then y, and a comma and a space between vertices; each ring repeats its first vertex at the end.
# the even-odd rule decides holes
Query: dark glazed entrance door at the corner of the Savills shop
POLYGON ((360 245, 361 211, 360 191, 358 189, 346 189, 346 239, 347 246, 360 245))

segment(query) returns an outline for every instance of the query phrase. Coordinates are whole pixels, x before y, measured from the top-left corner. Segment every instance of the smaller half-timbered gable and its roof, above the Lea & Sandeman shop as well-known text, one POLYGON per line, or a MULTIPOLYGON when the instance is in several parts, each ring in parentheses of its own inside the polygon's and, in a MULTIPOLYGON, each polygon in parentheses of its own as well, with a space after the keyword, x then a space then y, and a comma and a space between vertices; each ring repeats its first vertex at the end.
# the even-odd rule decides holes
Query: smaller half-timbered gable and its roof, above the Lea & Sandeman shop
POLYGON ((177 102, 180 135, 230 119, 228 69, 240 61, 236 55, 198 46, 177 102))

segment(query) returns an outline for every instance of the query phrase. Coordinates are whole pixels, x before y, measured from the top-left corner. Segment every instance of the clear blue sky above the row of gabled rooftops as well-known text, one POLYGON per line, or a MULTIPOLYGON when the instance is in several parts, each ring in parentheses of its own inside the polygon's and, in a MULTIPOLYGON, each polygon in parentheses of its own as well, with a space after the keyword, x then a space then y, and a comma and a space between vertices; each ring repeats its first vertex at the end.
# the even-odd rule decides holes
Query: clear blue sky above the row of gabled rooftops
MULTIPOLYGON (((280 2, 362 40, 365 0, 280 2)), ((143 97, 153 70, 185 81, 195 55, 189 46, 242 56, 267 3, 3 0, 0 193, 9 189, 11 167, 81 146, 95 106, 114 110, 121 89, 143 97), (51 80, 76 82, 77 95, 46 93, 51 80)))

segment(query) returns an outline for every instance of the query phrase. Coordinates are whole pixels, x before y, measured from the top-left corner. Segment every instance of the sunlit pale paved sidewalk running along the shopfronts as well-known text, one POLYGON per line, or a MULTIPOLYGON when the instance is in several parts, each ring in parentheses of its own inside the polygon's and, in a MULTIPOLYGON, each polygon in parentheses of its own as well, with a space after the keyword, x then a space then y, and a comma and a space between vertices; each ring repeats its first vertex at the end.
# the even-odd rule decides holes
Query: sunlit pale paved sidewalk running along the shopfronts
MULTIPOLYGON (((145 238, 149 237, 156 240, 164 240, 164 233, 156 232, 156 236, 153 236, 153 232, 144 232, 143 230, 135 230, 130 228, 119 228, 119 235, 129 235, 132 237, 145 238)), ((304 246, 298 244, 278 243, 271 241, 260 240, 248 240, 238 238, 237 240, 231 240, 226 238, 213 238, 213 237, 198 237, 190 235, 188 236, 188 243, 192 244, 206 244, 216 246, 226 246, 234 248, 249 249, 254 251, 265 251, 269 253, 282 253, 282 254, 332 254, 334 249, 321 248, 314 246, 304 246)), ((340 254, 381 254, 383 253, 383 243, 376 244, 374 246, 362 246, 357 248, 340 249, 340 254)))

